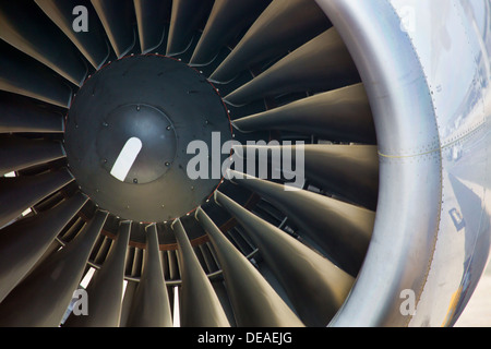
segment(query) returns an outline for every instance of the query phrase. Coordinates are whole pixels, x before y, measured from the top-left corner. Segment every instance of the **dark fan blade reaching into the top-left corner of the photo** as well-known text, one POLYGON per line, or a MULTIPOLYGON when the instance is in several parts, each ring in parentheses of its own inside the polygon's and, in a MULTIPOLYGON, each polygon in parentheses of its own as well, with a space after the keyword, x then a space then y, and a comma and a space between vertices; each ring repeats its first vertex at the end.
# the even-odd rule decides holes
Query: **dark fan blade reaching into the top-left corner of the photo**
POLYGON ((36 5, 2 1, 0 38, 77 86, 87 75, 76 49, 36 5))

